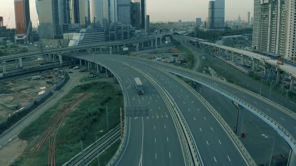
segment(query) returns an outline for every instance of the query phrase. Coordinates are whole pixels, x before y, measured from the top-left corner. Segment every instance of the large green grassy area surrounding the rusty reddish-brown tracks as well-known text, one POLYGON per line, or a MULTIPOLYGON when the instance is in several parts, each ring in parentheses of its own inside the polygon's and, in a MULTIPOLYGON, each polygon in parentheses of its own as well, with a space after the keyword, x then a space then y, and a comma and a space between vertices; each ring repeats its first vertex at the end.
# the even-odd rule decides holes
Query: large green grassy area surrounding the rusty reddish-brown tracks
POLYGON ((87 95, 79 101, 67 115, 56 137, 56 164, 62 165, 77 154, 68 146, 80 149, 80 140, 83 147, 95 141, 95 133, 102 136, 108 132, 106 129, 106 106, 109 113, 109 128, 120 123, 119 108, 123 106, 121 93, 114 90, 113 85, 107 82, 92 82, 86 86, 75 87, 65 95, 56 105, 50 107, 37 120, 26 127, 19 137, 28 141, 28 147, 12 165, 44 165, 48 161, 48 140, 41 152, 36 152, 46 125, 64 105, 75 100, 81 93, 87 91, 87 95), (108 100, 104 99, 107 97, 108 100), (102 102, 103 101, 103 102, 102 102))

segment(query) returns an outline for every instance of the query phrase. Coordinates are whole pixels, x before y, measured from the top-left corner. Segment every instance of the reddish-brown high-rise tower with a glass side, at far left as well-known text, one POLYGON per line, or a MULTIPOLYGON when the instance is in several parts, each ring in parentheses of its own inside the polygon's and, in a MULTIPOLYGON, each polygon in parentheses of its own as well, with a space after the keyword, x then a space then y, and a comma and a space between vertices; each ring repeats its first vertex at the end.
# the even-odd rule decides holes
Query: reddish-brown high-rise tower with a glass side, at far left
POLYGON ((29 0, 15 0, 16 43, 32 42, 32 22, 30 19, 29 0))

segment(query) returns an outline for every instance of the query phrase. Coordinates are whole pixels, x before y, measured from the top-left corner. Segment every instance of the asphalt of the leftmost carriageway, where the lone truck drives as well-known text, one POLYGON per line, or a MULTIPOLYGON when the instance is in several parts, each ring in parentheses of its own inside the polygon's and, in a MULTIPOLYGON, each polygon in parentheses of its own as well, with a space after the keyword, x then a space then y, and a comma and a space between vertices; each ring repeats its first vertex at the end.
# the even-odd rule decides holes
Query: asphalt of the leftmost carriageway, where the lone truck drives
MULTIPOLYGON (((92 56, 85 56, 93 60, 92 56)), ((149 106, 149 117, 127 117, 127 146, 117 165, 184 165, 180 140, 170 112, 156 88, 134 69, 116 61, 95 57, 122 79, 127 91, 127 106, 149 106), (144 84, 138 95, 133 78, 144 84)))

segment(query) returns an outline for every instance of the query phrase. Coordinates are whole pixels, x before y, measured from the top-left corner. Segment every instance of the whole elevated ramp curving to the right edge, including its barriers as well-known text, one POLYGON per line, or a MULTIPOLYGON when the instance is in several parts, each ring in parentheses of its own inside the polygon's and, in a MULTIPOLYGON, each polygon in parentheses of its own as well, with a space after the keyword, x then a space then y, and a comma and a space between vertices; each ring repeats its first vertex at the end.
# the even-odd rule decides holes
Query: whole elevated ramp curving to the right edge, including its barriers
MULTIPOLYGON (((192 70, 188 70, 185 68, 177 67, 174 65, 167 65, 165 63, 161 62, 153 62, 150 60, 146 59, 141 59, 141 58, 134 58, 137 61, 143 62, 145 64, 150 64, 154 65, 157 64, 157 66, 162 66, 164 70, 168 70, 172 73, 178 74, 183 77, 187 77, 189 79, 192 79, 193 81, 202 83, 205 86, 209 86, 210 88, 214 89, 215 91, 225 95, 226 97, 230 99, 231 96, 235 97, 235 99, 239 99, 240 101, 244 101, 245 103, 241 104, 247 104, 248 106, 247 109, 252 111, 251 107, 253 109, 257 109, 261 111, 262 113, 266 114, 270 118, 272 118, 275 122, 280 124, 293 138, 296 137, 296 115, 294 112, 291 110, 285 109, 284 107, 280 105, 276 105, 272 101, 267 100, 266 98, 263 98, 262 96, 259 96, 258 94, 252 93, 242 87, 239 87, 237 85, 234 85, 229 82, 225 82, 222 80, 215 79, 214 77, 199 73, 199 72, 194 72, 192 70)), ((263 115, 260 115, 254 111, 255 113, 260 118, 263 118, 263 115)), ((263 118, 263 120, 266 120, 263 118)), ((278 130, 274 124, 271 124, 269 121, 265 121, 269 123, 274 129, 276 129, 278 132, 280 132, 281 135, 284 135, 282 130, 278 130)), ((284 136, 283 136, 284 137, 284 136)), ((293 151, 295 150, 295 144, 293 141, 291 141, 288 137, 284 137, 286 141, 290 144, 291 148, 293 151), (292 143, 293 142, 293 143, 292 143)))

